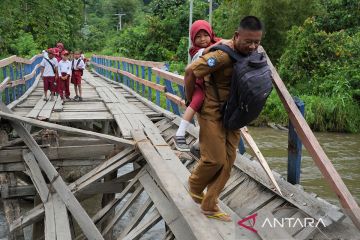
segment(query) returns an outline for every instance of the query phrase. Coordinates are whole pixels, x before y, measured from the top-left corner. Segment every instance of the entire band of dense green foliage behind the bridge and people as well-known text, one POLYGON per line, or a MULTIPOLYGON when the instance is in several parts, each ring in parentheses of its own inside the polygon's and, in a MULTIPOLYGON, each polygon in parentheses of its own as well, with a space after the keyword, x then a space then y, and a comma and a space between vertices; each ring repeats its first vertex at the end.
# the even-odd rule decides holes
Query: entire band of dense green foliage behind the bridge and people
MULTIPOLYGON (((265 24, 262 45, 315 130, 360 131, 358 0, 213 0, 213 27, 231 38, 239 20, 265 24)), ((193 20, 208 19, 195 0, 193 20)), ((188 0, 3 0, 0 56, 32 56, 57 41, 70 50, 170 62, 183 72, 188 53, 188 0), (117 31, 118 16, 122 30, 117 31)), ((276 91, 257 124, 287 124, 276 91)))

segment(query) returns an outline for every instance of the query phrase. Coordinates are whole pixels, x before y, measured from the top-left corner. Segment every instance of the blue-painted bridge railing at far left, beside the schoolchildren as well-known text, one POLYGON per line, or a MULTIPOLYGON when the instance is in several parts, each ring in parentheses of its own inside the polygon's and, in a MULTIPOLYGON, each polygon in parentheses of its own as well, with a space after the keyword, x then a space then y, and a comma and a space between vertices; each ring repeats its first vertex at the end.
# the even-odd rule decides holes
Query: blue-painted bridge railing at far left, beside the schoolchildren
POLYGON ((17 56, 0 60, 0 102, 19 99, 34 84, 42 58, 39 54, 30 60, 17 56))

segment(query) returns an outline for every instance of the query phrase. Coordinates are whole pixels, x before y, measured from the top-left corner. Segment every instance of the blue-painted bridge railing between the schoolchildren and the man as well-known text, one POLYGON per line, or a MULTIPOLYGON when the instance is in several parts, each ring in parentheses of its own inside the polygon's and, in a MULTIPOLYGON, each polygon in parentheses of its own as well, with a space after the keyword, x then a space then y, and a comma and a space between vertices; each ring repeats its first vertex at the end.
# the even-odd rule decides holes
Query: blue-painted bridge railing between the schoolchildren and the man
POLYGON ((102 76, 120 82, 158 106, 181 115, 185 107, 183 77, 169 73, 167 64, 99 55, 91 57, 91 64, 102 76))

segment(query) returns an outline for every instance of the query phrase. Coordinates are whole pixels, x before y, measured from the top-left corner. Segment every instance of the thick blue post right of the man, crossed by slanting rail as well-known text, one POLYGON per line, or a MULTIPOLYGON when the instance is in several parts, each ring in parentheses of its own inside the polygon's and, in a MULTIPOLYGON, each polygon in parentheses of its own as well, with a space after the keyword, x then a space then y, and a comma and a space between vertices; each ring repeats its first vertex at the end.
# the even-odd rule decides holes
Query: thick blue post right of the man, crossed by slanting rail
MULTIPOLYGON (((299 98, 294 98, 295 104, 304 116, 305 104, 299 98)), ((294 126, 289 120, 289 137, 288 137, 288 176, 287 181, 292 184, 300 183, 301 170, 301 151, 302 143, 297 135, 294 126)))

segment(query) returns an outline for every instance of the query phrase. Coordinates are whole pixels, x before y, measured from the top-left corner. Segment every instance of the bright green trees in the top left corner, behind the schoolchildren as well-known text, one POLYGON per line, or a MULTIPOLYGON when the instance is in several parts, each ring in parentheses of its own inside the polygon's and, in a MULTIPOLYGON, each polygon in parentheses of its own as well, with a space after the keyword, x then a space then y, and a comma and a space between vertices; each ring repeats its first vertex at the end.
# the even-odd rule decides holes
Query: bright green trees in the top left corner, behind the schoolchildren
POLYGON ((57 41, 75 46, 81 41, 82 6, 81 0, 2 0, 0 56, 30 57, 57 41))

